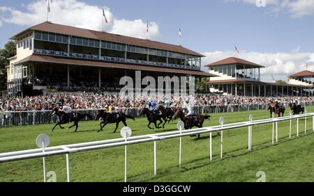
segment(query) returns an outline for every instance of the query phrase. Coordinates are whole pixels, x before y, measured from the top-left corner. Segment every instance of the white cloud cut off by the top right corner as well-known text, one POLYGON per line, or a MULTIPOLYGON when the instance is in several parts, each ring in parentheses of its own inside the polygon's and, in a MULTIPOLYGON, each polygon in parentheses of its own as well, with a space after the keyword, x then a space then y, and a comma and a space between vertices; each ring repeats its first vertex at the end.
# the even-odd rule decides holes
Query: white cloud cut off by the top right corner
MULTIPOLYGON (((256 0, 226 0, 249 3, 256 6, 256 0)), ((314 14, 313 0, 259 0, 266 2, 269 13, 289 13, 291 17, 304 17, 314 14)))

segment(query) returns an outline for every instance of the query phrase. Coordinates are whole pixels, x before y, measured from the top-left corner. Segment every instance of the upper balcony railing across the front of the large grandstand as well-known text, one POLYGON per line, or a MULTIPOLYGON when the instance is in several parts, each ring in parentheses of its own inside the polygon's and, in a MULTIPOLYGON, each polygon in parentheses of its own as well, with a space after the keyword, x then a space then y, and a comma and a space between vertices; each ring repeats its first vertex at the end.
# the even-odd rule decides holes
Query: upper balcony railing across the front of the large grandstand
POLYGON ((134 60, 129 58, 118 58, 118 57, 110 57, 110 56, 98 56, 91 54, 79 54, 79 53, 68 53, 65 51, 53 51, 53 50, 45 50, 45 49, 34 49, 34 54, 40 55, 49 55, 49 56, 61 56, 68 58, 82 58, 88 60, 102 60, 107 62, 115 62, 115 63, 134 63, 140 65, 151 65, 156 67, 168 67, 168 68, 177 68, 182 70, 200 70, 200 67, 197 66, 188 66, 188 65, 177 65, 171 63, 160 63, 160 62, 152 62, 147 60, 134 60))

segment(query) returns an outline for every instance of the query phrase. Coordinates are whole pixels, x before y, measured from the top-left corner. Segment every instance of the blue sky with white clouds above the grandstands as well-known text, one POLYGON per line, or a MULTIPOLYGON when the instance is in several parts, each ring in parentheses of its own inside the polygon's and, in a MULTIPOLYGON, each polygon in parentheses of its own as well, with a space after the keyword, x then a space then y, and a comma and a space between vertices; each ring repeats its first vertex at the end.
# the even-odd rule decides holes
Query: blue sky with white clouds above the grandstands
MULTIPOLYGON (((181 28, 202 65, 244 58, 266 67, 262 81, 314 71, 314 0, 50 0, 49 20, 100 31, 103 8, 109 33, 146 38, 148 20, 150 40, 179 44, 181 28)), ((0 47, 46 17, 46 0, 0 0, 0 47)))

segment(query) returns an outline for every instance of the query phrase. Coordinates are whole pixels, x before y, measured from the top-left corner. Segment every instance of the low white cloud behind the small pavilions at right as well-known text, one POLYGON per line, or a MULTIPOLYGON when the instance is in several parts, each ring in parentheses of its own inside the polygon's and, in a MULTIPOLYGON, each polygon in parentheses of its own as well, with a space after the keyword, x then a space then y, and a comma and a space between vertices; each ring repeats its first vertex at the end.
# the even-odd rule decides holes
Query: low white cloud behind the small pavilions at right
POLYGON ((306 70, 306 63, 309 65, 307 70, 314 72, 314 53, 299 52, 299 47, 287 53, 240 51, 239 54, 235 54, 234 51, 214 51, 205 52, 204 56, 207 57, 202 60, 203 65, 214 63, 217 60, 222 60, 230 56, 263 65, 266 68, 261 69, 262 81, 272 81, 271 74, 274 75, 275 79, 286 80, 287 75, 306 70))

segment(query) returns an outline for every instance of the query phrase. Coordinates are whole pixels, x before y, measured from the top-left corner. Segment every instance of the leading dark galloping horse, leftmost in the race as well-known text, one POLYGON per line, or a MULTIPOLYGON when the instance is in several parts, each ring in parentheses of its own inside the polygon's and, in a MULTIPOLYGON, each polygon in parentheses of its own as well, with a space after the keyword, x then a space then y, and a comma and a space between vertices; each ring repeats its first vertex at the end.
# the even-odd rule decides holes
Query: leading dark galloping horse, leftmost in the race
MULTIPOLYGON (((54 128, 56 128, 56 126, 59 125, 61 129, 64 129, 64 127, 62 127, 61 124, 67 124, 69 122, 74 122, 74 124, 72 126, 68 127, 68 129, 71 129, 73 126, 76 126, 75 132, 77 131, 78 122, 80 120, 84 119, 84 117, 89 117, 89 120, 92 119, 91 115, 81 114, 81 113, 76 113, 75 117, 70 117, 70 115, 68 115, 62 111, 59 111, 58 108, 54 108, 50 114, 52 116, 57 115, 59 117, 59 122, 56 125, 54 125, 54 128)), ((54 131, 54 128, 52 128, 52 131, 54 131)))

